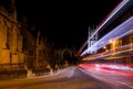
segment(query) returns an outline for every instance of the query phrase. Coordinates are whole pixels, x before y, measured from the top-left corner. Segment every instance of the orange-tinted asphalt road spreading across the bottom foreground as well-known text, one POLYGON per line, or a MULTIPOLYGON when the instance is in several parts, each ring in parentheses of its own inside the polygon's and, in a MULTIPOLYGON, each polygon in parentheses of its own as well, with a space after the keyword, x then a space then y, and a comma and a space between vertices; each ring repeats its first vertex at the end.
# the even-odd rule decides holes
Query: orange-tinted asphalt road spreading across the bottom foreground
POLYGON ((132 89, 111 84, 71 67, 53 76, 0 81, 0 89, 132 89))

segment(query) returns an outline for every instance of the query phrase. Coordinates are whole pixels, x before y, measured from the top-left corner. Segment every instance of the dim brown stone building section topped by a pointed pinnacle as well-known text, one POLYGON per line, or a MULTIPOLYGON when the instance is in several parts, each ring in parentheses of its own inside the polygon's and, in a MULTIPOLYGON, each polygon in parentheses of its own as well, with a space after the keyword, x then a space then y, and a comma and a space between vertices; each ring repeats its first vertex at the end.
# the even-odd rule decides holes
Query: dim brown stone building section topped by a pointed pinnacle
POLYGON ((47 69, 49 64, 49 48, 48 48, 47 40, 41 35, 40 31, 38 31, 35 38, 35 60, 34 60, 34 69, 47 69))

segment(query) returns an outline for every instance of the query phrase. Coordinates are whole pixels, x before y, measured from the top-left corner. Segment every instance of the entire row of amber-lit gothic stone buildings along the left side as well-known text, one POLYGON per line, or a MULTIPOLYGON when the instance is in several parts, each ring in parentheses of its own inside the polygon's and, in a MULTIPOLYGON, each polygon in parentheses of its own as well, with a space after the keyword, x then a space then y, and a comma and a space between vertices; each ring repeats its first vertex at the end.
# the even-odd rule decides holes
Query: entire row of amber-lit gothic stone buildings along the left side
POLYGON ((51 46, 35 26, 30 27, 38 31, 32 34, 27 18, 18 21, 14 0, 6 3, 10 5, 0 4, 0 79, 4 76, 32 76, 38 71, 44 74, 51 68, 53 49, 50 52, 51 46))

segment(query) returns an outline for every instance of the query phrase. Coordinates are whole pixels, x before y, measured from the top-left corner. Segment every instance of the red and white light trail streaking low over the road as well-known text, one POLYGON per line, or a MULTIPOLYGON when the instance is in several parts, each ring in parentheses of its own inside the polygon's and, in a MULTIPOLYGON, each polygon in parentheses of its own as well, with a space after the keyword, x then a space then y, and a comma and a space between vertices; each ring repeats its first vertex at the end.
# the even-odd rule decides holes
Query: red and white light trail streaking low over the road
POLYGON ((80 68, 84 68, 93 71, 102 71, 106 74, 115 74, 120 76, 131 77, 133 78, 133 68, 125 65, 116 65, 116 64, 80 64, 80 68))

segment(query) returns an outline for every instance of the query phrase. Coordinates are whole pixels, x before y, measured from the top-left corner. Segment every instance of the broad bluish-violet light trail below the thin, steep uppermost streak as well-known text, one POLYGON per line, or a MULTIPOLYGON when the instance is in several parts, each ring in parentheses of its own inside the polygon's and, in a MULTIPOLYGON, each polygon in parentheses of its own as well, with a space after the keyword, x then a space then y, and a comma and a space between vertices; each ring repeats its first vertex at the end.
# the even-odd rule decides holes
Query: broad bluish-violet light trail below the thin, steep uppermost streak
POLYGON ((101 40, 99 40, 96 43, 94 43, 91 47, 85 49, 81 54, 81 56, 83 56, 84 54, 95 52, 99 48, 110 44, 110 40, 121 38, 131 33, 133 33, 133 16, 131 16, 129 20, 123 22, 121 25, 119 25, 117 27, 112 30, 110 33, 108 33, 105 36, 103 36, 101 40))

